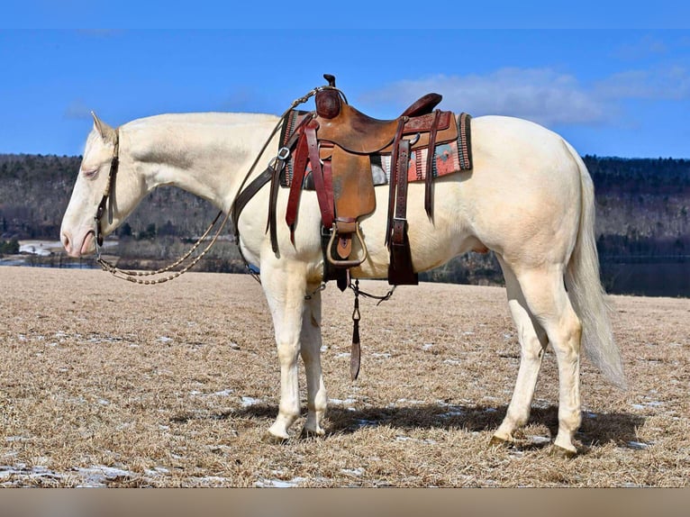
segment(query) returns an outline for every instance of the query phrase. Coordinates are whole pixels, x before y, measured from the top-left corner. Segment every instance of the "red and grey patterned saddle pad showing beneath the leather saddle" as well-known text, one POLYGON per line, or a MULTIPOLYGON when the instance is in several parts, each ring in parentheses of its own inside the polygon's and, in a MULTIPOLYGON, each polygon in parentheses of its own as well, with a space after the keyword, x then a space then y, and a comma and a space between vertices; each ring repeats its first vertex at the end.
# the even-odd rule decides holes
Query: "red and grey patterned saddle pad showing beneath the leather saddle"
MULTIPOLYGON (((299 122, 304 119, 304 116, 311 112, 304 112, 293 110, 288 114, 286 123, 283 125, 281 132, 280 145, 286 144, 286 141, 295 132, 295 128, 299 122)), ((449 142, 440 142, 434 147, 434 160, 432 161, 433 177, 445 176, 460 170, 470 170, 472 168, 472 147, 471 147, 471 131, 470 120, 472 117, 468 113, 460 113, 456 117, 458 124, 458 139, 449 142)), ((408 181, 423 181, 426 178, 426 162, 429 150, 422 148, 420 150, 413 150, 410 154, 410 164, 408 172, 408 181)), ((375 154, 371 155, 371 172, 374 177, 374 185, 386 185, 391 177, 391 156, 390 154, 375 154)), ((307 170, 304 177, 306 178, 311 168, 307 164, 307 170)), ((291 156, 286 163, 283 173, 280 177, 281 186, 291 186, 294 174, 294 159, 291 156)), ((313 186, 311 181, 305 180, 304 188, 313 186)))

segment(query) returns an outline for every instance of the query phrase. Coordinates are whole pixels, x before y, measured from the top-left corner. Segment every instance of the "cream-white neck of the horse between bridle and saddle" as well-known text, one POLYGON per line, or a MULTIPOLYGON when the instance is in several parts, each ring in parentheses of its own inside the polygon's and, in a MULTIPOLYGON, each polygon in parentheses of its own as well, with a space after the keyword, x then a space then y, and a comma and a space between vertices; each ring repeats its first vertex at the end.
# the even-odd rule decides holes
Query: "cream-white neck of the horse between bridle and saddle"
MULTIPOLYGON (((227 211, 276 120, 243 113, 150 117, 121 128, 121 154, 142 175, 147 192, 177 186, 227 211)), ((269 146, 264 161, 271 152, 269 146)))

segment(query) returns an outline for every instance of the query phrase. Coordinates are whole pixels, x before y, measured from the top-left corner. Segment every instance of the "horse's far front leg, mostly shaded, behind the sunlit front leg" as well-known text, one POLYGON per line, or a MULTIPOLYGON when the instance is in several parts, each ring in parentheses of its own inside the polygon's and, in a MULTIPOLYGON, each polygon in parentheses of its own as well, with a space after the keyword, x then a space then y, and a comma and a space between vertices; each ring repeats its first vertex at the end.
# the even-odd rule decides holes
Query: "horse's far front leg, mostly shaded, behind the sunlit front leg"
POLYGON ((302 434, 321 436, 324 434, 322 422, 328 404, 321 369, 321 291, 316 291, 315 286, 309 286, 307 290, 313 295, 304 304, 300 339, 307 394, 307 416, 302 434))

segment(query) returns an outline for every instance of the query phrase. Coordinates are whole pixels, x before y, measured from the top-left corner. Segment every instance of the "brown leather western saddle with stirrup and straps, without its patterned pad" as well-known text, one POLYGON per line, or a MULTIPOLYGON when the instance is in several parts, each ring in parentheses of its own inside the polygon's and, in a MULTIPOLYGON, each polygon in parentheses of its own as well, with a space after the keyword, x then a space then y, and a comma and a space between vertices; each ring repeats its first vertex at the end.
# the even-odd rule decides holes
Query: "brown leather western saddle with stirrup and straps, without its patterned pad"
MULTIPOLYGON (((434 146, 458 138, 455 115, 434 110, 441 95, 423 95, 394 120, 378 120, 347 103, 335 86, 335 77, 323 76, 328 86, 315 94, 316 110, 295 130, 294 177, 286 222, 295 229, 297 204, 307 164, 322 213, 324 256, 329 270, 347 270, 367 259, 359 220, 376 210, 371 158, 390 156, 390 184, 386 245, 390 249, 390 284, 417 284, 407 240, 406 196, 408 165, 414 150, 427 150, 425 207, 432 216, 432 163, 434 146), (353 241, 359 250, 352 252, 353 241)), ((331 275, 338 277, 338 275, 331 275)))

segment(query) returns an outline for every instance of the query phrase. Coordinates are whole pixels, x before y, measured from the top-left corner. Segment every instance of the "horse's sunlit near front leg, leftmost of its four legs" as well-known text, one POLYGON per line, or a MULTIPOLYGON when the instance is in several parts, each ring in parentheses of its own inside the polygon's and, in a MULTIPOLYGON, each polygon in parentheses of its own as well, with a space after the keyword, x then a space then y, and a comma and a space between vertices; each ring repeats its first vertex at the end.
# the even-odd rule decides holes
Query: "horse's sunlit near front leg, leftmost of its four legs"
POLYGON ((280 402, 276 422, 267 440, 286 440, 287 430, 300 413, 297 360, 304 315, 306 268, 298 262, 268 259, 261 262, 261 285, 273 317, 280 364, 280 402))

